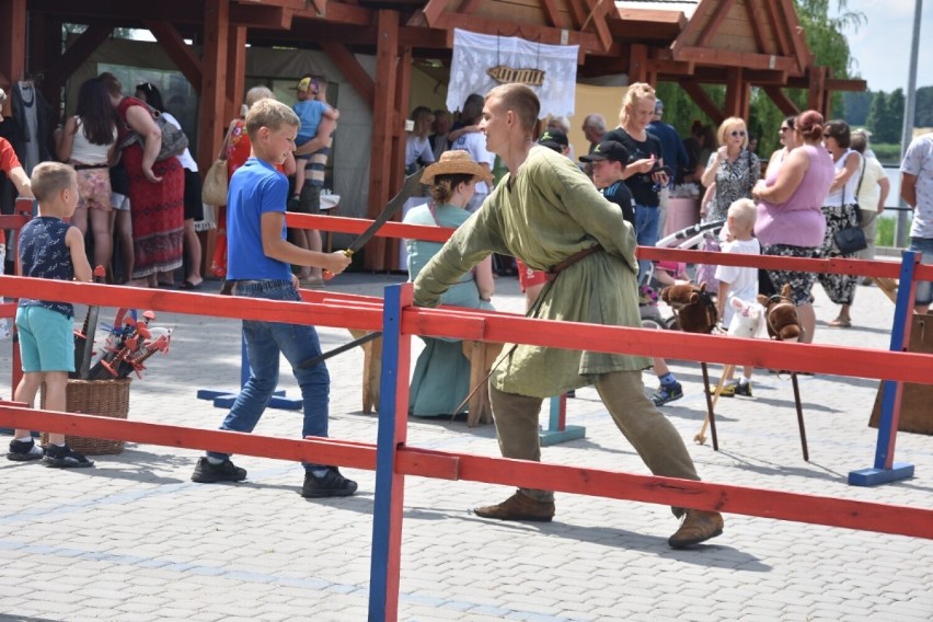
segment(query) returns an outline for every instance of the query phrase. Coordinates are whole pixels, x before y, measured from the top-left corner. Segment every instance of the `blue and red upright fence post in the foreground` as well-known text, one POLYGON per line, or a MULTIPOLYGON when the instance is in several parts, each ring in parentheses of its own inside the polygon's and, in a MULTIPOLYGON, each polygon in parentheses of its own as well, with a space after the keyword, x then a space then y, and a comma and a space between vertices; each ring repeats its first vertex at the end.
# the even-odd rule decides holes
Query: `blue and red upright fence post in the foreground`
POLYGON ((412 337, 402 334, 402 310, 411 304, 411 284, 385 288, 369 571, 369 620, 375 622, 393 622, 399 617, 405 476, 395 473, 395 456, 407 440, 412 337))

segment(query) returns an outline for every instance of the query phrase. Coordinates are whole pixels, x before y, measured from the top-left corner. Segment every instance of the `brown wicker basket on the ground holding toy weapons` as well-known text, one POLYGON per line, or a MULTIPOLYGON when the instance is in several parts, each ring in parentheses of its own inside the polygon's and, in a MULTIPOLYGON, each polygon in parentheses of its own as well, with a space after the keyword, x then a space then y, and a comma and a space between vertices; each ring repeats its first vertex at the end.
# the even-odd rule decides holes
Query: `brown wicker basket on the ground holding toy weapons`
MULTIPOLYGON (((69 413, 99 415, 125 419, 129 413, 129 378, 115 380, 69 380, 66 389, 66 406, 69 413)), ((45 408, 45 384, 42 385, 39 405, 45 408)), ((120 453, 122 440, 65 436, 65 441, 80 453, 102 456, 120 453)), ((48 445, 48 434, 42 434, 42 444, 48 445)))

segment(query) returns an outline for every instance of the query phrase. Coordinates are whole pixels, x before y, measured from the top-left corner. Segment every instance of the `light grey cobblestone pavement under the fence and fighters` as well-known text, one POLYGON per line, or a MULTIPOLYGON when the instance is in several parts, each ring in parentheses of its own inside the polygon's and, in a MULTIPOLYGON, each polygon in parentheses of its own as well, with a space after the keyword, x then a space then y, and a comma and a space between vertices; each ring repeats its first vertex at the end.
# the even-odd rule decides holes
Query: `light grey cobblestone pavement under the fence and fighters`
MULTIPOLYGON (((347 274, 329 289, 379 296, 402 279, 347 274)), ((497 287, 498 309, 522 308, 514 278, 500 278, 497 287)), ((836 310, 819 288, 815 292, 818 343, 888 347, 894 306, 876 287, 859 288, 849 330, 826 326, 836 310)), ((145 378, 134 381, 130 418, 214 429, 224 411, 195 394, 235 390, 239 322, 160 315, 157 324, 175 327, 172 349, 150 359, 145 378)), ((349 336, 322 329, 321 338, 330 349, 349 336)), ((3 378, 10 365, 7 342, 0 345, 3 378)), ((330 364, 331 435, 375 442, 376 418, 361 413, 361 365, 358 349, 330 364)), ((800 378, 805 462, 786 377, 759 370, 755 398, 721 400, 721 451, 714 452, 692 442, 705 414, 699 366, 671 367, 686 396, 664 411, 704 480, 933 506, 930 436, 898 436, 897 459, 915 465, 913 479, 869 488, 846 484, 849 471, 873 463, 877 431, 867 421, 877 381, 800 378)), ((654 376, 644 378, 653 389, 654 376)), ((281 388, 298 394, 288 373, 281 388)), ((545 448, 545 461, 647 473, 595 390, 568 400, 568 422, 585 426, 586 438, 545 448)), ((278 410, 267 411, 256 430, 299 433, 299 415, 278 410)), ((498 454, 492 426, 414 419, 408 440, 498 454)), ((201 485, 189 480, 198 454, 128 444, 88 470, 0 461, 0 620, 366 619, 373 473, 345 469, 359 482, 356 496, 307 500, 298 494, 299 464, 238 457, 250 473, 245 482, 201 485)), ((504 486, 407 479, 401 620, 933 620, 928 540, 732 515, 725 533, 707 545, 673 551, 666 540, 677 522, 668 508, 650 504, 561 494, 555 521, 541 525, 470 512, 508 494, 504 486)))

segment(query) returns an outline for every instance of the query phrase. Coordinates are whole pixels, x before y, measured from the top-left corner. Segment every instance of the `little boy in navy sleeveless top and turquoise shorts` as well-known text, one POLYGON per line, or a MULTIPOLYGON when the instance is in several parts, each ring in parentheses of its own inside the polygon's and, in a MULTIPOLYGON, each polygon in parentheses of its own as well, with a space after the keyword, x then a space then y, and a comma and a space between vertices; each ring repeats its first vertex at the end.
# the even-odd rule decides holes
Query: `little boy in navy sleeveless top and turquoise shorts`
MULTIPOLYGON (((20 233, 18 252, 21 276, 54 280, 91 280, 91 264, 84 254, 84 237, 77 227, 65 222, 78 205, 78 178, 74 169, 58 162, 43 162, 33 169, 30 180, 38 199, 38 217, 20 233)), ((74 371, 74 308, 69 302, 21 298, 16 308, 23 379, 13 400, 32 406, 45 382, 45 407, 65 412, 68 372, 74 371)), ((73 451, 64 434, 48 435, 48 446, 36 446, 27 429, 18 429, 10 442, 9 460, 42 458, 46 466, 93 466, 73 451)))

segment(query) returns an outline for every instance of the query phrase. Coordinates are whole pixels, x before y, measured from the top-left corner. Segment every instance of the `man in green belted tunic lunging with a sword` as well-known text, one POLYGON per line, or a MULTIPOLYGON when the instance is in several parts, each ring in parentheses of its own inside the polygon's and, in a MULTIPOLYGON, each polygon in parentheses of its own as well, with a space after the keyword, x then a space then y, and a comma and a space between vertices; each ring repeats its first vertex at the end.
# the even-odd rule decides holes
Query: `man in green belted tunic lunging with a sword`
MULTIPOLYGON (((415 304, 437 307, 441 295, 489 253, 512 255, 554 278, 533 316, 609 326, 640 326, 635 234, 618 205, 597 192, 567 158, 535 146, 538 96, 522 84, 503 84, 486 96, 481 130, 486 148, 508 174, 422 270, 415 304)), ((506 458, 541 460, 538 417, 545 398, 596 385, 615 425, 655 475, 699 480, 675 427, 645 395, 641 356, 506 346, 489 378, 499 448, 506 458)), ((673 548, 698 544, 723 531, 715 511, 672 508, 684 517, 673 548)), ((550 521, 552 491, 519 488, 502 504, 476 508, 500 520, 550 521)))

